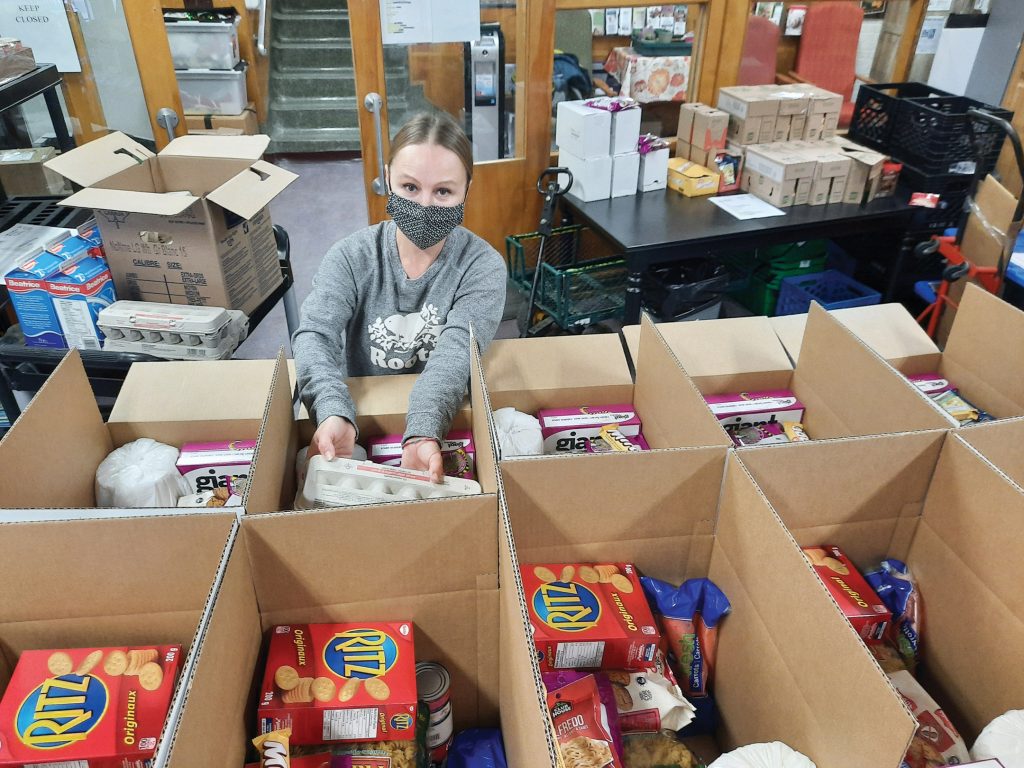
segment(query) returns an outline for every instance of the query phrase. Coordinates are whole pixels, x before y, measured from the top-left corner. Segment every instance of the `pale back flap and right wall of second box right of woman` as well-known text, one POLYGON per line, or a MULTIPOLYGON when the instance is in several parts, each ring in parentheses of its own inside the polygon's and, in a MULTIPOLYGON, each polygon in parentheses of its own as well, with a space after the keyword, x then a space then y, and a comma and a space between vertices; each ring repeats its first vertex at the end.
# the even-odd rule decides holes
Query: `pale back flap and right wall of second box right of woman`
POLYGON ((804 404, 803 425, 812 440, 949 429, 954 425, 924 393, 816 304, 811 305, 796 366, 767 317, 664 324, 657 330, 706 397, 792 391, 804 404))

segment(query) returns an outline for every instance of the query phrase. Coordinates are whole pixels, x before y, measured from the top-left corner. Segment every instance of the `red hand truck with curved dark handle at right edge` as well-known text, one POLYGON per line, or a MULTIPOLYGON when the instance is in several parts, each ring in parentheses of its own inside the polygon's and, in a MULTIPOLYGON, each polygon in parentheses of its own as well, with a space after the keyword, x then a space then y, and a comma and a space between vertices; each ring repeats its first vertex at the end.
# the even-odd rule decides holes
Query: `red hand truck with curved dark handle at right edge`
MULTIPOLYGON (((995 126, 1009 137, 1010 143, 1014 148, 1014 159, 1017 161, 1017 169, 1021 176, 1024 177, 1024 152, 1021 150, 1020 136, 1017 135, 1014 127, 1007 120, 983 110, 970 110, 968 111, 968 116, 973 120, 995 126)), ((984 147, 980 140, 975 140, 976 136, 972 128, 973 120, 969 120, 967 126, 972 141, 975 143, 979 161, 976 164, 974 178, 971 182, 971 194, 968 196, 968 203, 961 216, 956 233, 933 236, 931 240, 922 243, 915 249, 918 255, 923 258, 938 253, 945 264, 942 271, 942 280, 936 283, 922 281, 914 286, 914 293, 928 303, 925 311, 918 316, 918 323, 925 326, 928 335, 933 339, 938 332, 939 322, 942 319, 942 313, 945 311, 946 306, 951 306, 953 309, 957 307, 956 302, 949 298, 949 289, 952 284, 961 280, 969 280, 977 283, 989 293, 996 295, 999 293, 1002 288, 1002 279, 1009 261, 1010 251, 1017 240, 1017 233, 1021 229, 1021 219, 1024 216, 1024 195, 1022 195, 1017 201, 1017 207, 1014 210, 1013 220, 1010 223, 1008 231, 995 230, 988 222, 982 222, 990 230, 994 230, 993 233, 996 233, 1002 241, 1002 250, 994 266, 979 266, 971 261, 969 256, 962 250, 961 245, 964 241, 964 230, 969 217, 979 216, 983 218, 981 211, 973 207, 974 194, 985 174, 984 165, 981 162, 984 147)))

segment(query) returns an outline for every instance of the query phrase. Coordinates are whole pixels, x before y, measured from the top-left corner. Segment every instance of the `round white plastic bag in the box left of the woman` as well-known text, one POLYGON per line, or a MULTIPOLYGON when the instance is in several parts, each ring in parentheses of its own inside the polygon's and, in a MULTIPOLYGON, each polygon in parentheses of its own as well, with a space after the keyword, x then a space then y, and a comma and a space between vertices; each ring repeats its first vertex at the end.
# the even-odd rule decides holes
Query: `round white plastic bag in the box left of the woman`
POLYGON ((122 445, 96 468, 96 506, 176 507, 190 493, 177 460, 176 447, 148 437, 122 445))

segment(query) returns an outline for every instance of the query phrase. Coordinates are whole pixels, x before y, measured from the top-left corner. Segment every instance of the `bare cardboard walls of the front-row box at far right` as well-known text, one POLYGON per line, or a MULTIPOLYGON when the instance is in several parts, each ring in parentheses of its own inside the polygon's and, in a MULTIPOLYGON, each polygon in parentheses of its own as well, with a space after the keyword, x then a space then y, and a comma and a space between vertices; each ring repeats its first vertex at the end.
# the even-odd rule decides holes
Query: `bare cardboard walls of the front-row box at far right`
POLYGON ((736 457, 800 545, 839 546, 862 572, 885 557, 909 565, 926 606, 918 677, 970 745, 992 718, 1024 705, 1015 662, 1024 652, 1024 490, 961 434, 736 457))

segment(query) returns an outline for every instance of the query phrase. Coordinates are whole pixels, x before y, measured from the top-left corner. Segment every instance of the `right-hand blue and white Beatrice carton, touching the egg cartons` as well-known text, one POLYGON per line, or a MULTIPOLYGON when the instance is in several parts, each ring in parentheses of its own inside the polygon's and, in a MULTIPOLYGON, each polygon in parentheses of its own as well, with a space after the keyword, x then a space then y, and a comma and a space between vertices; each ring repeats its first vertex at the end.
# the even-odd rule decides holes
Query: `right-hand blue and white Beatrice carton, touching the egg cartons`
POLYGON ((99 310, 117 301, 106 261, 88 256, 47 281, 53 309, 69 347, 100 349, 99 310))

